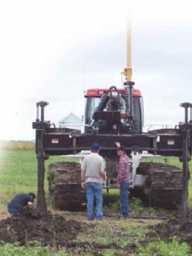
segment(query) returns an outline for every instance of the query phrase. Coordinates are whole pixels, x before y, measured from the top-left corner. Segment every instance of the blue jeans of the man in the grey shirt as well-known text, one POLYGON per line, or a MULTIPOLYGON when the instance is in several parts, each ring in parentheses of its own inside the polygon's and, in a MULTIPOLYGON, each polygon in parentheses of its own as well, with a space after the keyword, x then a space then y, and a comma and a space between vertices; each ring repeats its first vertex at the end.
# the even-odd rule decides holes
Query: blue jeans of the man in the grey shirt
POLYGON ((94 201, 96 200, 96 219, 102 219, 102 183, 85 183, 87 196, 87 219, 94 220, 94 201))

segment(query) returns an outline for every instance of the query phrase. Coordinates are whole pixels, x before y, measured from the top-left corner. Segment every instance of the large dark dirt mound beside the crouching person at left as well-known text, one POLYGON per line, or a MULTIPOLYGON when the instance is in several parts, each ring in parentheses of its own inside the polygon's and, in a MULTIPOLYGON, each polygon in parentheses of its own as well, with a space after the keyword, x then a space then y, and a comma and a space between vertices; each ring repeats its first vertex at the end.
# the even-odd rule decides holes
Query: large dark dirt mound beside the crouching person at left
POLYGON ((75 220, 66 220, 50 212, 41 214, 35 208, 26 207, 24 212, 0 221, 0 241, 26 245, 29 241, 38 241, 43 246, 64 246, 73 240, 81 224, 75 220))

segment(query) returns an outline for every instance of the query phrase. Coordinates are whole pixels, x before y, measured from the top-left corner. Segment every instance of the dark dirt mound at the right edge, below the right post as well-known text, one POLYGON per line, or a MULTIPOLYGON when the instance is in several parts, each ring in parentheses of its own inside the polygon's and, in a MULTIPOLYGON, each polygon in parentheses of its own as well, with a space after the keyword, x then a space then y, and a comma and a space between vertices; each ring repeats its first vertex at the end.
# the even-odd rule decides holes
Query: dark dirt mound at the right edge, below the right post
POLYGON ((186 241, 192 248, 192 213, 187 218, 169 219, 162 224, 149 226, 149 229, 152 231, 146 235, 148 238, 159 237, 160 240, 167 241, 177 236, 179 241, 186 241))

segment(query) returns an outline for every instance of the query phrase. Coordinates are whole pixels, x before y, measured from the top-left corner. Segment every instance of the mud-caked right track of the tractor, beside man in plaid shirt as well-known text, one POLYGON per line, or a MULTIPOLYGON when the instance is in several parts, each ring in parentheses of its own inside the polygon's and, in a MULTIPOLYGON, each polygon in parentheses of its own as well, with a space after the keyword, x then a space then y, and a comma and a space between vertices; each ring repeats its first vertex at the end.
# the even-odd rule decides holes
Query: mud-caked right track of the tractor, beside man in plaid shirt
POLYGON ((150 207, 172 209, 180 206, 183 193, 183 172, 177 166, 142 162, 138 174, 145 179, 144 195, 150 207))

